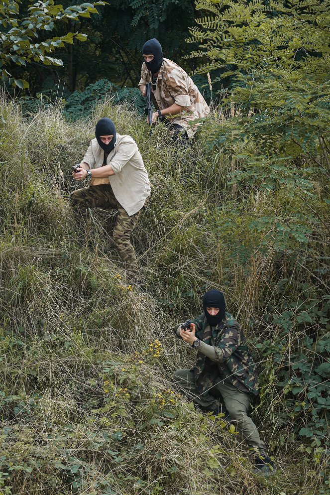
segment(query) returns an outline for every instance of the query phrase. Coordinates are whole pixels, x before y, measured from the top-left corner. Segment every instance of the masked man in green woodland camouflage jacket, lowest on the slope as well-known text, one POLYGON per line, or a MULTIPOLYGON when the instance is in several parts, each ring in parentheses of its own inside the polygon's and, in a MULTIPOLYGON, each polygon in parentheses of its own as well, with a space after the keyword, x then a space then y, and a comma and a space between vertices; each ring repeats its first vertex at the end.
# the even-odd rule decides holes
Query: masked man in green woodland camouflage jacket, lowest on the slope
POLYGON ((220 401, 225 413, 242 434, 254 455, 255 473, 268 476, 275 471, 265 444, 248 410, 258 395, 258 370, 248 350, 243 330, 225 311, 224 295, 209 290, 203 297, 204 313, 174 327, 175 335, 197 351, 193 370, 174 373, 177 384, 197 407, 218 414, 220 401))

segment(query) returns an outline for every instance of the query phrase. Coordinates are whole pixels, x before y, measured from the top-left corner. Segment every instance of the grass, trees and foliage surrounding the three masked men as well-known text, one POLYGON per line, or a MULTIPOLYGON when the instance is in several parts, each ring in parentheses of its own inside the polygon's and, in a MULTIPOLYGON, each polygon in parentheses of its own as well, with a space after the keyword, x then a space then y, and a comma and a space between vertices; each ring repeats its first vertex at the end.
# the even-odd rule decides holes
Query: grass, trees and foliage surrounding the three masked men
POLYGON ((329 495, 329 0, 0 11, 0 493, 329 495), (141 115, 151 37, 212 108, 188 149, 141 115), (144 295, 106 212, 82 248, 68 206, 105 116, 154 186, 134 231, 144 295), (171 380, 194 361, 171 326, 211 287, 260 367, 270 478, 171 380))

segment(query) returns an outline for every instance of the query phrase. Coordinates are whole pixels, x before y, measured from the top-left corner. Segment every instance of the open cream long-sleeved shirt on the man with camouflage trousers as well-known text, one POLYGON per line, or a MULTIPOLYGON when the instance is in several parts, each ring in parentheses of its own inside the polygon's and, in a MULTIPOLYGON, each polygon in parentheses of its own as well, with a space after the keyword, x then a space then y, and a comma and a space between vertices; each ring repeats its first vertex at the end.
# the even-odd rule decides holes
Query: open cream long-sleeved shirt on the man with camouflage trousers
MULTIPOLYGON (((96 138, 92 139, 82 162, 92 169, 102 167, 103 160, 104 150, 96 138)), ((117 133, 114 148, 107 158, 107 165, 111 165, 114 175, 110 175, 109 178, 92 179, 90 185, 110 183, 116 200, 127 215, 134 215, 142 208, 151 191, 148 173, 134 139, 117 133)))

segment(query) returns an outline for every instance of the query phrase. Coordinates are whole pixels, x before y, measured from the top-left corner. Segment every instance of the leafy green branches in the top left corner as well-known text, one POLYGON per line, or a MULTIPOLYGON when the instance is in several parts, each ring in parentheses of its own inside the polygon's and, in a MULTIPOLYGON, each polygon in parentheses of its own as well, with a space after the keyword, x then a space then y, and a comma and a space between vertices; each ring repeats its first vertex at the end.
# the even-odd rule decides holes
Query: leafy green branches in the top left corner
POLYGON ((98 13, 95 8, 105 5, 105 2, 82 3, 63 8, 53 0, 38 1, 27 8, 27 14, 20 16, 19 7, 21 0, 16 2, 4 1, 0 5, 0 80, 20 89, 28 88, 28 82, 24 79, 16 79, 12 73, 16 73, 16 67, 26 66, 32 62, 45 65, 63 65, 62 60, 53 58, 52 54, 65 44, 73 44, 75 40, 86 41, 86 35, 67 32, 62 36, 41 39, 39 35, 43 31, 53 31, 55 25, 61 22, 72 22, 80 17, 90 17, 91 13, 98 13))

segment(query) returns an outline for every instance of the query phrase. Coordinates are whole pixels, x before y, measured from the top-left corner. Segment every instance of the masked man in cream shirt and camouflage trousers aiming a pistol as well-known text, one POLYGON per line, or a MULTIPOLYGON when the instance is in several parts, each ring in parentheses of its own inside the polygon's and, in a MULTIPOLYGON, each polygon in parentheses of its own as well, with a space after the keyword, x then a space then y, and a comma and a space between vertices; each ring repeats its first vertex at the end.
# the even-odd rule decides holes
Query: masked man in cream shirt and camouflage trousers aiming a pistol
POLYGON ((117 210, 112 239, 128 274, 136 281, 138 265, 130 235, 150 195, 148 173, 136 142, 120 135, 110 119, 101 119, 95 127, 86 155, 73 177, 89 179, 90 184, 70 195, 78 220, 87 219, 87 208, 117 210))

